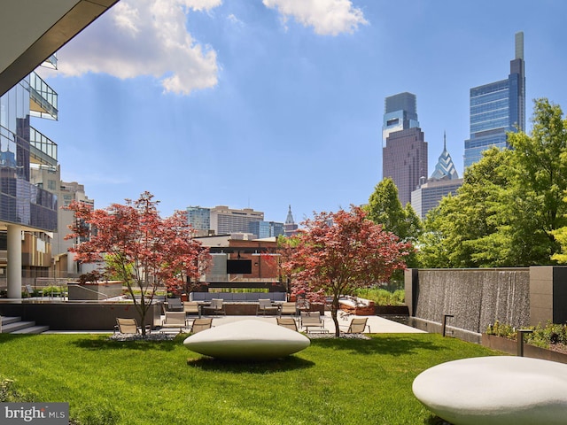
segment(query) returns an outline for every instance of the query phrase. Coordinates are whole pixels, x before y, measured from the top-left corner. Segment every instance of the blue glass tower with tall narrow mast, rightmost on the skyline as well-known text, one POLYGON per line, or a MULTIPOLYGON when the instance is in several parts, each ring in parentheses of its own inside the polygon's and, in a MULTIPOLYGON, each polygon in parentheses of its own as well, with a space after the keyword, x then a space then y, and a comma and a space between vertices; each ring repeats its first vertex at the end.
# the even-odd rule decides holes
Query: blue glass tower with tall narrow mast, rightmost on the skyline
POLYGON ((525 131, 524 33, 516 34, 516 58, 507 80, 470 89, 470 138, 464 141, 464 168, 493 146, 509 148, 507 133, 525 131))

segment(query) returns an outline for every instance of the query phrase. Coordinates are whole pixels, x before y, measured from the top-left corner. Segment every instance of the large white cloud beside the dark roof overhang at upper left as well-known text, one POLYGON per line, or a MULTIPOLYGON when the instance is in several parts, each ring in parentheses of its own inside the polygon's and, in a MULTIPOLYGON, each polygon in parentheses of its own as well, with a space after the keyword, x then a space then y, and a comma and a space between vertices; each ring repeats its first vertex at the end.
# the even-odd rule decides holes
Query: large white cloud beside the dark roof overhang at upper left
POLYGON ((151 75, 166 92, 189 95, 217 84, 216 52, 195 42, 186 13, 208 12, 221 0, 121 0, 58 53, 64 75, 151 75))

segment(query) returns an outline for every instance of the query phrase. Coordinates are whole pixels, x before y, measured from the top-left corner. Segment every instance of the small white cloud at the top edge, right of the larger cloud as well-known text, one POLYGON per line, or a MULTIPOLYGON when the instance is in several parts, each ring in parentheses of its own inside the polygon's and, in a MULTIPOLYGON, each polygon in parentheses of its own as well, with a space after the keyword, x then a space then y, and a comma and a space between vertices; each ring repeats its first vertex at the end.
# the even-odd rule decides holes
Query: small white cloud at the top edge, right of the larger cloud
POLYGON ((313 27, 318 35, 353 33, 366 25, 362 11, 350 0, 263 0, 266 7, 277 9, 283 24, 292 17, 305 27, 313 27))

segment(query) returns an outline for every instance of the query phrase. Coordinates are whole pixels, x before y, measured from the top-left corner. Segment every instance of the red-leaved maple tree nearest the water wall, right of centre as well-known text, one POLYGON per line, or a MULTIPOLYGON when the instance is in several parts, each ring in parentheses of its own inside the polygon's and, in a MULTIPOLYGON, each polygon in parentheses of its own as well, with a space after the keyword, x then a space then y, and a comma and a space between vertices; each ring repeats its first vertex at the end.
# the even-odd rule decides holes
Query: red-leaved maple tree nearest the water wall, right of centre
POLYGON ((339 298, 404 269, 413 247, 368 220, 357 206, 350 212, 315 213, 313 220, 301 224, 298 243, 283 268, 291 275, 292 293, 311 301, 332 297, 331 317, 339 336, 339 298))

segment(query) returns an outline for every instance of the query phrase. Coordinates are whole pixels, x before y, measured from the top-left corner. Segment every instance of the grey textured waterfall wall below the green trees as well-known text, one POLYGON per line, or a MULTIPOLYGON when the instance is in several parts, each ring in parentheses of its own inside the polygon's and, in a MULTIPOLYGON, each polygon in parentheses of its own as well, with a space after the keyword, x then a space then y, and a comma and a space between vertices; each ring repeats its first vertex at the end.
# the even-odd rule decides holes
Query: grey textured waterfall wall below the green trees
POLYGON ((440 324, 450 314, 447 325, 465 332, 494 321, 521 328, 530 324, 530 269, 408 270, 406 302, 415 319, 440 324))

